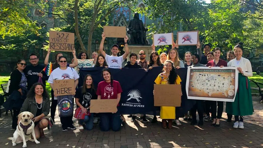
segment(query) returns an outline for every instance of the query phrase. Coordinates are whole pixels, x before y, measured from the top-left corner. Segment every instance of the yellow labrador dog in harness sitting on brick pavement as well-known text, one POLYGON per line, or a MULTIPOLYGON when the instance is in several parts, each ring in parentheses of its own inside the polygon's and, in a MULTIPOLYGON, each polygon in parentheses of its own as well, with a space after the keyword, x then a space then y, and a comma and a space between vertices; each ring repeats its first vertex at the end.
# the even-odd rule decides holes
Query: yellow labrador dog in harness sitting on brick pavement
POLYGON ((36 144, 40 143, 38 140, 36 140, 36 134, 35 134, 35 124, 32 121, 32 118, 34 115, 31 112, 21 112, 18 115, 20 122, 16 127, 16 131, 13 134, 13 137, 9 137, 9 140, 12 140, 13 146, 16 146, 17 143, 23 142, 22 147, 27 147, 27 141, 32 141, 36 144), (33 136, 34 140, 31 138, 31 135, 33 136))

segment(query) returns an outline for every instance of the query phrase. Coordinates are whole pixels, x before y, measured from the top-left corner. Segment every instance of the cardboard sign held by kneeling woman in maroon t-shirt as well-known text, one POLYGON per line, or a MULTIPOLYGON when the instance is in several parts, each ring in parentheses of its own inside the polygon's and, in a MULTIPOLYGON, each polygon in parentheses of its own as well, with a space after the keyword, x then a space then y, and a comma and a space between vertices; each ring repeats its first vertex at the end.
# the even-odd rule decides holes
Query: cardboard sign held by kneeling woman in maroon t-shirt
POLYGON ((90 100, 90 112, 116 112, 117 99, 90 100))

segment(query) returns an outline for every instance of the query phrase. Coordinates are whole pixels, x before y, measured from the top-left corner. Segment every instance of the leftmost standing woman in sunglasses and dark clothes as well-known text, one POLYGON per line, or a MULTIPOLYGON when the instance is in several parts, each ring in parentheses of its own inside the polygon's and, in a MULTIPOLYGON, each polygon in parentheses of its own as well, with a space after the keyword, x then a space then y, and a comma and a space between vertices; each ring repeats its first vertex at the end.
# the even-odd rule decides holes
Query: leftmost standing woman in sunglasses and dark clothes
POLYGON ((12 128, 16 129, 17 126, 17 117, 20 109, 24 103, 24 100, 27 95, 27 78, 23 70, 26 67, 25 60, 18 60, 16 62, 16 68, 12 71, 10 75, 10 86, 9 86, 9 109, 13 109, 13 121, 12 128))

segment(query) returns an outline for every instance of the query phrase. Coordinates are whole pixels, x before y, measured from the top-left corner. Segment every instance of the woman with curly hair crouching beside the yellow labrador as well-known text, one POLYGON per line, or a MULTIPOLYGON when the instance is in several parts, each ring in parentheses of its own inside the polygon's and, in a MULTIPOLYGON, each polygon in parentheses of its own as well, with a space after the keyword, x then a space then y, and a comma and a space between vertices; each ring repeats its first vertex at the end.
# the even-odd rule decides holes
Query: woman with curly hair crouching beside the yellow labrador
MULTIPOLYGON (((48 125, 51 125, 49 121, 49 110, 50 110, 50 101, 49 95, 46 91, 45 86, 42 83, 35 83, 30 88, 27 93, 27 98, 25 99, 23 106, 20 110, 21 112, 31 112, 34 114, 32 121, 35 124, 35 133, 36 138, 44 137, 45 134, 43 129, 48 125)), ((21 116, 18 116, 18 122, 20 122, 21 116)))

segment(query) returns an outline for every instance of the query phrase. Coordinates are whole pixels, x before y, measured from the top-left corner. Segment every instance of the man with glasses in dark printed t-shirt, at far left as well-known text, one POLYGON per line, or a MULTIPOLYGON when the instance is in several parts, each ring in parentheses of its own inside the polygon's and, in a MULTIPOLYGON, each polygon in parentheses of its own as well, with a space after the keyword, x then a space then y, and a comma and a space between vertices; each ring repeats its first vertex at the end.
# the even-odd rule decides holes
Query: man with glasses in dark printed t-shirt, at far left
POLYGON ((39 59, 36 54, 30 54, 29 62, 31 63, 31 65, 26 66, 26 68, 24 69, 24 73, 27 77, 28 90, 34 83, 38 82, 39 77, 41 77, 42 83, 44 84, 44 86, 46 86, 46 80, 48 79, 48 76, 45 74, 44 71, 42 71, 45 68, 45 66, 38 64, 38 61, 39 59))

